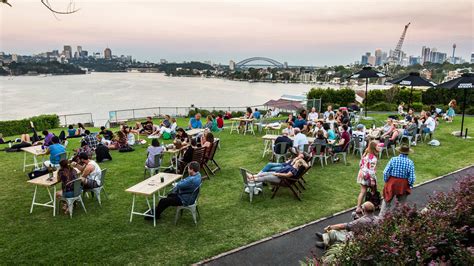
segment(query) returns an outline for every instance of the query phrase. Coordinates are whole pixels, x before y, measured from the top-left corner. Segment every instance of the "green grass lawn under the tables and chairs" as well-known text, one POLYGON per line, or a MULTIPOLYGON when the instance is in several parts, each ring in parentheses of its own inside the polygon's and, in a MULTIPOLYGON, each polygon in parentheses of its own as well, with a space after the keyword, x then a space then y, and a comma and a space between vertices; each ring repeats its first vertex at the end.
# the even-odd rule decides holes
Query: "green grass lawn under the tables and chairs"
MULTIPOLYGON (((385 116, 377 115, 379 119, 385 116)), ((460 128, 456 118, 452 124, 439 126, 435 138, 440 147, 414 147, 417 183, 474 163, 474 140, 450 135, 460 128)), ((472 132, 474 118, 465 125, 472 132)), ((263 141, 260 136, 229 135, 228 131, 217 135, 222 148, 216 157, 223 170, 203 184, 197 227, 189 213, 174 226, 174 208, 165 211, 156 228, 138 216, 129 223, 132 197, 124 190, 143 180, 146 145, 132 153, 111 152, 113 160, 101 164, 109 169, 105 185, 109 200, 103 200, 100 208, 93 199, 85 199, 87 214, 76 208, 73 219, 63 214, 52 217, 51 209, 43 207, 35 207, 30 214, 34 187, 21 171, 23 153, 0 153, 1 264, 190 264, 356 204, 359 160, 352 155, 347 166, 315 166, 306 177, 302 202, 286 189, 272 200, 268 188, 266 197, 256 196, 252 204, 247 195, 240 200, 238 167, 257 171, 268 162, 262 159, 263 141)), ((74 139, 68 150, 77 147, 78 139, 74 139)), ((378 165, 379 180, 386 163, 384 157, 378 165)), ((40 195, 46 200, 45 191, 40 195)), ((146 204, 138 206, 144 209, 146 204)))

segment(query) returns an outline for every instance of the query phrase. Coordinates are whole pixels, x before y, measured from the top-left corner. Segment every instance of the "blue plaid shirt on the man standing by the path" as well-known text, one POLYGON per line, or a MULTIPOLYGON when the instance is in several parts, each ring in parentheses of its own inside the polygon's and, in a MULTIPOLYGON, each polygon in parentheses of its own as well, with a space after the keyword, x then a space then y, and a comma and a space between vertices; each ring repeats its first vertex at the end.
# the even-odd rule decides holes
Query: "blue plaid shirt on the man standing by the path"
POLYGON ((399 156, 390 159, 383 171, 383 180, 387 182, 388 178, 391 176, 408 179, 408 185, 411 188, 413 187, 416 179, 415 164, 412 160, 408 159, 408 155, 400 154, 399 156))

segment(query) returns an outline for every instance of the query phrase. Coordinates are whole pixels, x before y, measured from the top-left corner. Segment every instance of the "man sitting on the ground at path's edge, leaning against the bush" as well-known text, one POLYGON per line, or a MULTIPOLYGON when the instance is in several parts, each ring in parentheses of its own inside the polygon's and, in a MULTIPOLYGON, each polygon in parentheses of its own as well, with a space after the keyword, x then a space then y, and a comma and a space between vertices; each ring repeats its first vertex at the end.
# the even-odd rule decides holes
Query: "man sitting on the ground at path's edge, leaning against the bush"
POLYGON ((325 233, 316 233, 316 236, 321 240, 316 242, 316 247, 327 248, 338 242, 345 242, 352 232, 357 230, 358 232, 364 232, 366 228, 372 227, 376 224, 377 218, 374 215, 375 207, 372 202, 366 201, 361 206, 362 217, 357 220, 342 223, 333 224, 324 228, 325 233))

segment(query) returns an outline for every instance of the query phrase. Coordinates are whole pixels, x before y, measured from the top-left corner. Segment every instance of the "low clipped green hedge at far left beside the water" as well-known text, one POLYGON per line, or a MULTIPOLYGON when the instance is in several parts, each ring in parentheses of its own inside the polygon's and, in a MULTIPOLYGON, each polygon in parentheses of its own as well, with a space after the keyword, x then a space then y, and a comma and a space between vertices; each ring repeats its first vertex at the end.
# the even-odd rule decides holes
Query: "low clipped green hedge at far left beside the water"
POLYGON ((34 123, 37 131, 59 127, 57 115, 40 115, 22 120, 0 121, 0 133, 5 137, 30 133, 30 121, 34 123))

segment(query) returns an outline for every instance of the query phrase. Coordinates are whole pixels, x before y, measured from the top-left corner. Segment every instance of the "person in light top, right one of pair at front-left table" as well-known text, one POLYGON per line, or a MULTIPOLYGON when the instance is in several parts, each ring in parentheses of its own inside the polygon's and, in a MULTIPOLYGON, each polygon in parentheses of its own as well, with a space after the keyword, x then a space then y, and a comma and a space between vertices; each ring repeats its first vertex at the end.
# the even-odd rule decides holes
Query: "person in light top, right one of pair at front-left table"
POLYGON ((81 172, 80 179, 84 189, 100 187, 102 185, 102 170, 100 166, 95 161, 89 159, 85 153, 79 153, 78 159, 79 163, 73 163, 73 166, 81 172))

